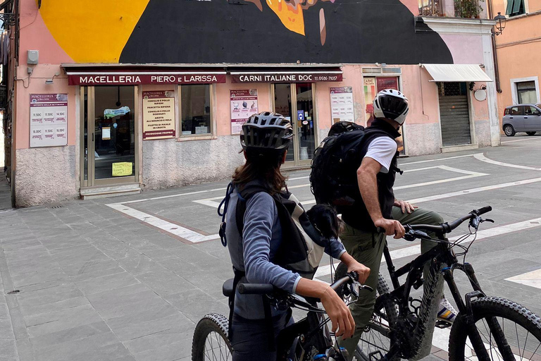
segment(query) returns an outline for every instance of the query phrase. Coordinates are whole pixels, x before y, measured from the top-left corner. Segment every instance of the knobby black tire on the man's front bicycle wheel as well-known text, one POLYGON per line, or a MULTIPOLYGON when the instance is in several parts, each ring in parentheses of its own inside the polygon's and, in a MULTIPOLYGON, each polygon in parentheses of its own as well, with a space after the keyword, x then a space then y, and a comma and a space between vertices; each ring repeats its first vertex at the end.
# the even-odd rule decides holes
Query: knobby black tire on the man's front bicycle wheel
MULTIPOLYGON (((521 359, 532 359, 532 360, 541 360, 541 319, 537 317, 533 312, 519 305, 516 302, 506 300, 499 297, 485 297, 478 298, 471 302, 473 319, 475 321, 475 326, 478 326, 478 321, 482 320, 484 324, 485 321, 490 322, 491 319, 496 319, 502 329, 502 334, 504 334, 506 342, 509 342, 509 347, 514 355, 519 355, 521 359), (518 333, 518 327, 515 326, 514 329, 505 330, 505 320, 514 323, 515 325, 521 326, 523 329, 528 331, 525 339, 521 338, 522 335, 518 333), (501 326, 504 324, 504 326, 501 326), (514 345, 514 332, 516 331, 516 339, 518 341, 518 347, 514 345), (507 337, 509 335, 509 337, 507 337), (508 340, 509 338, 509 340, 508 340), (537 341, 535 341, 535 339, 537 341), (530 341, 530 343, 528 343, 530 341), (521 350, 522 348, 522 350, 521 350), (530 350, 531 348, 531 350, 530 350)), ((480 326, 480 325, 479 325, 480 326)), ((486 326, 485 330, 489 331, 490 326, 486 326)), ((482 329, 479 329, 480 333, 483 333, 482 329)), ((487 332, 489 333, 489 332, 487 332)), ((489 333, 490 344, 492 343, 492 332, 489 333)), ((483 335, 483 342, 487 340, 487 336, 483 335), (484 338, 483 338, 484 336, 484 338)), ((468 337, 468 326, 466 324, 466 317, 463 314, 459 314, 454 321, 454 324, 451 329, 451 335, 449 336, 449 361, 464 361, 468 357, 466 353, 466 338, 468 337)), ((494 340, 496 340, 495 336, 494 340)), ((495 341, 496 342, 496 341, 495 341)), ((486 347, 485 343, 485 347, 486 347)), ((469 346, 468 346, 469 347, 469 346)), ((492 357, 497 356, 495 359, 501 359, 502 355, 497 354, 499 347, 493 349, 492 357)), ((489 355, 491 357, 491 355, 489 355)))

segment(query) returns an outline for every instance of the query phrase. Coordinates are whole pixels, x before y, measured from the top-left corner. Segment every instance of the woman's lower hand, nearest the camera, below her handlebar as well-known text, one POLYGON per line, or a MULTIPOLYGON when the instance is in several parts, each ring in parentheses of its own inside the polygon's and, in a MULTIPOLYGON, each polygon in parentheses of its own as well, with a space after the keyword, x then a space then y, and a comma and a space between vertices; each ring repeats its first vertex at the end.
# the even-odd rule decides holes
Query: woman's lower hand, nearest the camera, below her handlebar
POLYGON ((344 300, 330 286, 325 289, 320 299, 332 323, 332 332, 342 338, 352 337, 355 331, 355 321, 344 300))

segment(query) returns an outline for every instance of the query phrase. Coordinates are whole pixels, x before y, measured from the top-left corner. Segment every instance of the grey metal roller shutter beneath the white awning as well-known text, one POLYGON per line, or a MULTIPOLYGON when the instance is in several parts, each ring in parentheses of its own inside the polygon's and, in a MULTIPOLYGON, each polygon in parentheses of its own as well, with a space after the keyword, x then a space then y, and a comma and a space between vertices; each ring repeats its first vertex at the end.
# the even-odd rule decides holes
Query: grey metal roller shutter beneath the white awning
POLYGON ((443 146, 471 144, 467 92, 461 94, 460 88, 464 86, 460 86, 459 83, 444 84, 445 91, 440 91, 440 126, 443 146))

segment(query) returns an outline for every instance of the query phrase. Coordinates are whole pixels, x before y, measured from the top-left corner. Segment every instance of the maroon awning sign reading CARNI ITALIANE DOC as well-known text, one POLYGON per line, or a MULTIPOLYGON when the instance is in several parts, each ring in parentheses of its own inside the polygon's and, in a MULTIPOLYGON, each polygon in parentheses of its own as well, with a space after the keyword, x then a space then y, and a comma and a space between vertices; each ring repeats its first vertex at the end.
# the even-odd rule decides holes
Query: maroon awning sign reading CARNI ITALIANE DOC
POLYGON ((231 73, 231 82, 341 82, 342 73, 231 73))

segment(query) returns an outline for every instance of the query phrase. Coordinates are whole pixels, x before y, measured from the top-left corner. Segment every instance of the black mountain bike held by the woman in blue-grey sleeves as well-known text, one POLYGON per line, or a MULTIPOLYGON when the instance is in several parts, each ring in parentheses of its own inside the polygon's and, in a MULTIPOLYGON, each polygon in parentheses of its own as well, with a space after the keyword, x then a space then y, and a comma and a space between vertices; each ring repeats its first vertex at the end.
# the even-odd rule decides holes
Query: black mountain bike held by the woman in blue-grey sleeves
MULTIPOLYGON (((359 290, 372 290, 357 282, 357 274, 349 273, 330 286, 340 288, 342 295, 352 300, 359 290)), ((318 299, 302 298, 273 288, 270 284, 240 283, 241 294, 259 294, 268 297, 277 310, 295 307, 308 313, 304 319, 280 331, 277 338, 278 361, 347 361, 347 352, 336 346, 336 338, 330 333, 325 310, 318 307, 318 299)), ((232 280, 225 281, 223 295, 230 297, 232 280)), ((192 342, 192 361, 232 360, 233 349, 228 338, 228 319, 221 314, 206 314, 197 324, 192 342)))

